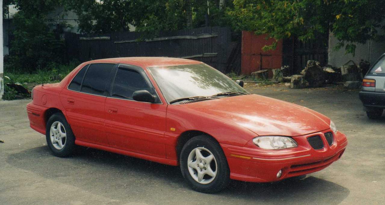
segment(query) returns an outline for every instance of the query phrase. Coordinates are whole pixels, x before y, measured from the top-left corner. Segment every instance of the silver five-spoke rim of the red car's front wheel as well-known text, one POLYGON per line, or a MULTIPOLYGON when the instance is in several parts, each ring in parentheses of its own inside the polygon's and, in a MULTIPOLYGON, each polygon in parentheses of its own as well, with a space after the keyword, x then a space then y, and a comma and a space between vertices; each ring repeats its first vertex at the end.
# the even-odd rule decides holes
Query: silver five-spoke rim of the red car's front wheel
POLYGON ((215 179, 218 166, 213 153, 204 147, 191 150, 187 158, 189 173, 196 182, 209 184, 215 179))

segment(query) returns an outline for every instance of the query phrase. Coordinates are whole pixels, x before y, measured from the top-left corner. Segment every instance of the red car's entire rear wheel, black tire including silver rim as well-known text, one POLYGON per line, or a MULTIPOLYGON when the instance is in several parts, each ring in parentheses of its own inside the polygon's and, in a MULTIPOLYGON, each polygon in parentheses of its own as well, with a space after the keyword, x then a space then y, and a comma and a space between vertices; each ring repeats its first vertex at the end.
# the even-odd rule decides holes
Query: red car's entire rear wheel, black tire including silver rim
POLYGON ((48 119, 45 137, 48 147, 55 156, 68 157, 72 155, 75 148, 75 136, 62 113, 55 113, 48 119))

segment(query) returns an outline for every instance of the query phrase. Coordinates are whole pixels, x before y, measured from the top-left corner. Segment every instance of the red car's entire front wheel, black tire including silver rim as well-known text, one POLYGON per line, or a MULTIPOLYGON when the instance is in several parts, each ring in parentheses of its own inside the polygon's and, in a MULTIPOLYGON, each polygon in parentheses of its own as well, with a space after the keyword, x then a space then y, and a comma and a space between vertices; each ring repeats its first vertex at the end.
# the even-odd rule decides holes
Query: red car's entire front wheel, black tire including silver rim
POLYGON ((187 141, 179 162, 184 179, 198 192, 220 192, 230 182, 226 156, 219 143, 209 136, 196 136, 187 141), (197 154, 197 150, 201 155, 197 154))

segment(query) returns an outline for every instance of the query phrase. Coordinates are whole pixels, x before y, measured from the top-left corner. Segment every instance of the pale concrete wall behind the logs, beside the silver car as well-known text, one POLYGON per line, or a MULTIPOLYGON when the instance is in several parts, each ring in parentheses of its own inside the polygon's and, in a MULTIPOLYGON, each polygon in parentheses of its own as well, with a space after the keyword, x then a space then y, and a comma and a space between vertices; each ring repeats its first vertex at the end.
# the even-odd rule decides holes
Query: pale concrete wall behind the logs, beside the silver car
POLYGON ((329 35, 329 48, 328 48, 328 64, 336 67, 340 67, 349 60, 353 60, 356 64, 361 60, 369 61, 372 65, 375 61, 385 53, 385 41, 367 41, 365 44, 358 44, 355 56, 352 54, 345 55, 345 48, 341 48, 335 51, 334 48, 337 45, 338 40, 331 33, 329 35))

